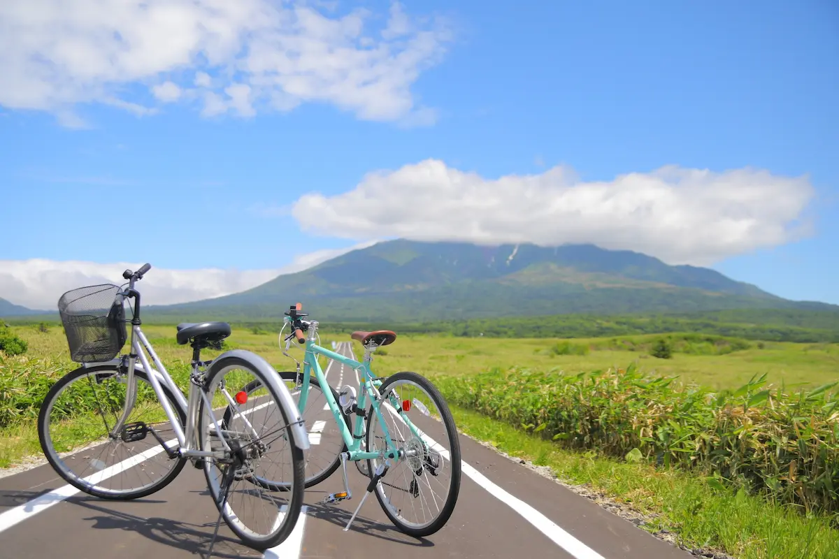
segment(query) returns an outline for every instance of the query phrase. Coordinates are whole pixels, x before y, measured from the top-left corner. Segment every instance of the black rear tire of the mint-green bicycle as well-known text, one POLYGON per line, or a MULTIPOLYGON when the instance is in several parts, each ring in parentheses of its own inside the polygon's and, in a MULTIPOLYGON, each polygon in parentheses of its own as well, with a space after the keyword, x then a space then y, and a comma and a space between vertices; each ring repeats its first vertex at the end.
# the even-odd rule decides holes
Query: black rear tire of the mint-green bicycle
MULTIPOLYGON (((396 525, 400 531, 403 531, 405 534, 414 537, 425 537, 434 534, 436 531, 440 531, 446 522, 448 522, 449 518, 451 517, 451 513, 455 510, 455 505, 457 504, 457 497, 460 494, 461 489, 461 444, 460 439, 457 433, 457 429, 455 426, 454 417, 451 416, 451 411, 449 410, 449 406, 446 403, 446 400, 440 394, 440 391, 437 390, 437 387, 434 384, 418 373, 414 373, 413 371, 400 371, 399 373, 395 373, 393 375, 388 376, 382 383, 382 386, 379 386, 378 391, 380 394, 385 395, 388 392, 388 386, 393 385, 395 382, 399 380, 409 380, 411 382, 416 383, 420 387, 424 388, 425 391, 428 392, 431 399, 434 400, 435 406, 438 411, 440 411, 440 418, 443 421, 443 424, 446 426, 446 432, 449 435, 448 443, 448 450, 450 456, 450 462, 452 464, 452 476, 451 476, 451 484, 450 484, 450 494, 448 499, 446 500, 446 505, 443 506, 443 510, 440 511, 440 515, 430 524, 421 528, 414 528, 412 526, 404 525, 398 518, 396 518, 391 510, 389 509, 388 505, 383 500, 383 495, 380 491, 381 484, 377 484, 375 493, 376 499, 378 499, 378 504, 382 506, 382 510, 384 514, 388 516, 391 522, 396 525)), ((370 433, 372 432, 370 427, 373 422, 373 417, 377 417, 376 421, 378 422, 378 416, 376 415, 376 411, 373 409, 373 405, 370 405, 369 412, 367 414, 367 434, 366 434, 366 443, 367 448, 373 448, 370 444, 370 433)), ((367 470, 373 475, 375 468, 373 468, 373 461, 367 460, 367 470)), ((385 478, 386 479, 386 478, 385 478)))

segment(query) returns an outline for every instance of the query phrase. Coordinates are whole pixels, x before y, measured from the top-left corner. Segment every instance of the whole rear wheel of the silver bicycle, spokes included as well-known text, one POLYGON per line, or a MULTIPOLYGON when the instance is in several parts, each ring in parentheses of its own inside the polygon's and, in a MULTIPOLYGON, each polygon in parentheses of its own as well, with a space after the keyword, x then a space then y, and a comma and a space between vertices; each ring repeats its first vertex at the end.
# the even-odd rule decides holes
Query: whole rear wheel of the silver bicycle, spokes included
POLYGON ((199 418, 201 450, 217 452, 227 445, 233 451, 223 461, 204 460, 210 494, 230 529, 258 550, 279 545, 294 530, 304 492, 303 451, 294 442, 292 418, 267 380, 239 357, 213 361, 203 389, 213 409, 202 401, 199 418), (258 390, 246 399, 239 387, 251 383, 258 390), (272 493, 255 479, 284 479, 288 487, 272 493))

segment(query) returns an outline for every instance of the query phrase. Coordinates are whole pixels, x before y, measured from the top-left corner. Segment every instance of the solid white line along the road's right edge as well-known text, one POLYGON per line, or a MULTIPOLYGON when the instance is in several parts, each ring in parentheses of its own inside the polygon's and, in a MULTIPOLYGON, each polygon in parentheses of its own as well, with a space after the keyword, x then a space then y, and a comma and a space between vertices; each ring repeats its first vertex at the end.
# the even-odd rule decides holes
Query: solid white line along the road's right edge
MULTIPOLYGON (((355 359, 355 355, 353 355, 353 359, 355 359)), ((391 406, 388 402, 383 403, 388 408, 388 411, 391 411, 391 414, 394 415, 394 417, 399 417, 399 415, 396 415, 396 410, 393 406, 391 406)), ((399 417, 399 421, 403 422, 403 424, 407 426, 407 423, 404 422, 402 417, 399 417)), ((425 442, 428 443, 431 448, 434 448, 441 456, 443 456, 443 458, 446 458, 451 462, 451 455, 445 447, 426 435, 420 427, 417 427, 417 431, 420 433, 420 437, 425 439, 425 442)), ((488 479, 487 476, 477 471, 477 469, 472 468, 471 465, 462 459, 461 470, 464 474, 466 474, 466 476, 471 478, 472 481, 480 485, 483 489, 486 489, 487 493, 515 510, 524 518, 524 520, 527 520, 531 525, 534 525, 537 530, 545 534, 545 536, 548 536, 557 546, 560 546, 572 556, 575 556, 576 559, 604 559, 604 557, 597 553, 597 551, 594 551, 591 547, 586 546, 586 544, 577 540, 576 537, 571 536, 571 534, 560 528, 560 525, 540 513, 539 510, 534 509, 522 499, 508 493, 497 484, 493 483, 492 480, 488 479)))

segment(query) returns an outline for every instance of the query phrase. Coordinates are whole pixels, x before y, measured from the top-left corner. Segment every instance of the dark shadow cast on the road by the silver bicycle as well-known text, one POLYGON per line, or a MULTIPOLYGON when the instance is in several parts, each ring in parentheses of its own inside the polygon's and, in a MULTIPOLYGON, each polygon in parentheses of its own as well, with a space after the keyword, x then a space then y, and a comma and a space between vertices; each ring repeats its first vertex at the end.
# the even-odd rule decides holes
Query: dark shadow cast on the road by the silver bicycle
MULTIPOLYGON (((16 497, 21 492, 15 492, 16 497)), ((33 493, 33 495, 37 495, 33 493)), ((91 522, 91 528, 96 530, 122 530, 131 531, 148 538, 151 541, 159 542, 165 546, 183 550, 192 556, 200 556, 201 559, 211 559, 209 554, 210 542, 213 531, 216 529, 216 520, 204 524, 193 524, 181 520, 171 520, 159 516, 143 517, 118 510, 120 505, 149 505, 155 508, 159 505, 166 505, 167 501, 158 499, 132 499, 131 501, 120 502, 109 506, 107 500, 96 497, 76 496, 65 500, 66 503, 81 506, 91 510, 94 515, 83 516, 81 520, 91 522), (96 515, 95 513, 100 513, 96 515)), ((215 508, 212 512, 216 512, 215 508)), ((236 559, 237 557, 262 557, 260 551, 254 550, 242 544, 242 541, 230 531, 221 520, 218 536, 213 545, 212 557, 214 559, 236 559), (225 533, 227 532, 227 534, 225 533)))

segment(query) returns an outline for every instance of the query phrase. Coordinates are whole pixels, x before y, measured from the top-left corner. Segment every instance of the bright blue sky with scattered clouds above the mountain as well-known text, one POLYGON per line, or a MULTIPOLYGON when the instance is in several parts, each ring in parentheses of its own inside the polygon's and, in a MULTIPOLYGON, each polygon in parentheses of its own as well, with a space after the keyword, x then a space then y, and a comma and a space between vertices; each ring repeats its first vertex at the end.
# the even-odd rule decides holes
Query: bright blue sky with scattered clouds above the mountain
MULTIPOLYGON (((389 3, 338 3, 337 8, 323 3, 310 9, 320 10, 323 18, 340 18, 359 6, 368 10, 364 29, 375 41, 387 23, 389 3)), ((608 239, 616 247, 665 260, 697 261, 784 297, 839 303, 833 279, 839 272, 833 256, 839 241, 839 4, 425 2, 405 3, 402 9, 397 23, 403 16, 404 21, 425 18, 417 24, 434 31, 403 34, 409 43, 402 45, 399 64, 385 57, 353 66, 352 71, 378 76, 384 85, 356 91, 334 76, 343 71, 335 68, 342 60, 358 65, 357 60, 327 61, 315 51, 313 64, 322 62, 327 70, 312 70, 320 72, 314 85, 284 81, 286 91, 296 91, 289 105, 297 103, 284 111, 271 110, 269 102, 282 104, 288 97, 221 114, 209 114, 209 101, 185 100, 185 93, 178 101, 163 102, 171 100, 160 88, 164 82, 188 91, 199 81, 198 70, 221 80, 215 91, 223 91, 225 80, 255 89, 265 77, 248 77, 242 65, 228 66, 231 73, 225 74, 206 65, 201 55, 179 59, 177 44, 138 41, 130 47, 139 51, 137 57, 117 69, 104 67, 107 60, 96 66, 84 51, 76 58, 65 56, 70 47, 56 50, 48 41, 40 50, 34 40, 31 52, 0 55, 3 74, 34 65, 33 53, 39 60, 64 57, 65 64, 64 70, 34 67, 25 78, 22 70, 17 81, 13 75, 8 85, 0 85, 7 91, 0 94, 0 222, 7 230, 0 261, 14 267, 18 279, 0 281, 0 288, 7 286, 0 297, 14 301, 18 294, 15 302, 24 304, 41 297, 15 291, 25 288, 20 277, 37 277, 27 268, 31 264, 21 262, 34 258, 103 265, 150 261, 173 271, 273 271, 288 267, 295 256, 300 260, 376 237, 415 231, 425 238, 435 229, 427 215, 435 204, 446 206, 441 215, 453 216, 446 217, 450 225, 472 211, 468 190, 477 199, 496 196, 501 206, 512 204, 511 220, 515 213, 529 215, 519 225, 502 223, 503 212, 475 218, 482 238, 608 239), (169 54, 175 62, 166 65, 161 60, 169 54), (29 75, 46 77, 37 82, 29 75), (157 96, 153 86, 159 87, 157 96), (143 112, 149 114, 138 114, 143 112), (421 162, 439 164, 432 168, 421 162), (395 173, 405 166, 404 173, 395 173), (558 197, 554 213, 540 213, 538 200, 516 206, 516 185, 555 166, 576 178, 549 174, 533 191, 558 197), (635 225, 624 223, 626 213, 619 213, 633 207, 628 202, 633 189, 650 196, 663 192, 650 186, 651 179, 623 184, 621 204, 600 206, 612 214, 560 211, 571 204, 557 194, 560 187, 614 184, 620 175, 649 175, 663 166, 722 173, 691 183, 708 193, 706 204, 672 202, 676 210, 667 215, 686 212, 685 222, 693 224, 678 241, 672 240, 675 229, 656 229, 667 221, 662 209, 637 214, 637 220, 649 221, 638 225, 643 230, 637 235, 635 225), (724 174, 743 168, 766 175, 724 174), (378 187, 367 176, 377 172, 382 173, 378 187), (435 173, 446 175, 443 183, 451 195, 439 181, 422 182, 435 173), (510 177, 507 183, 495 182, 503 176, 510 177), (743 192, 751 194, 721 194, 721 185, 734 192, 741 179, 743 192), (754 194, 755 185, 763 189, 764 182, 765 196, 754 194), (414 191, 420 187, 435 195, 414 191), (306 194, 316 195, 307 199, 306 194), (717 207, 731 204, 741 217, 753 211, 749 219, 763 225, 741 231, 737 242, 723 239, 733 236, 725 233, 728 210, 714 210, 712 195, 720 195, 717 207), (299 200, 305 203, 295 206, 299 200), (425 217, 409 215, 411 210, 425 211, 425 217), (363 223, 340 216, 347 212, 363 223), (706 218, 701 212, 711 213, 706 218), (805 220, 810 230, 784 236, 781 222, 790 216, 805 220), (556 225, 566 218, 565 229, 556 225), (529 228, 539 220, 544 223, 529 228), (324 225, 307 229, 316 221, 324 225), (623 225, 613 225, 618 222, 623 225), (17 234, 10 239, 9 231, 17 234), (715 231, 720 238, 713 238, 715 231), (672 246, 666 245, 670 241, 672 246)), ((250 16, 240 16, 247 27, 250 16)), ((15 17, 20 21, 7 14, 2 23, 0 8, 0 36, 4 25, 11 25, 5 28, 9 41, 15 37, 9 28, 48 36, 49 29, 27 27, 23 16, 15 17)), ((61 17, 55 8, 55 18, 61 17)), ((122 19, 97 17, 101 21, 95 24, 80 19, 79 33, 113 28, 122 37, 133 36, 133 29, 118 27, 122 19)), ((175 29, 187 23, 171 22, 175 29)), ((352 33, 354 20, 345 23, 352 33)), ((331 44, 335 29, 321 27, 301 33, 331 44)), ((390 30, 395 34, 399 25, 390 30)), ((253 52, 249 68, 259 64, 253 52)), ((234 101, 231 96, 228 105, 236 106, 234 101)), ((440 235, 446 236, 442 229, 440 235)), ((52 300, 53 294, 47 295, 52 300)))

